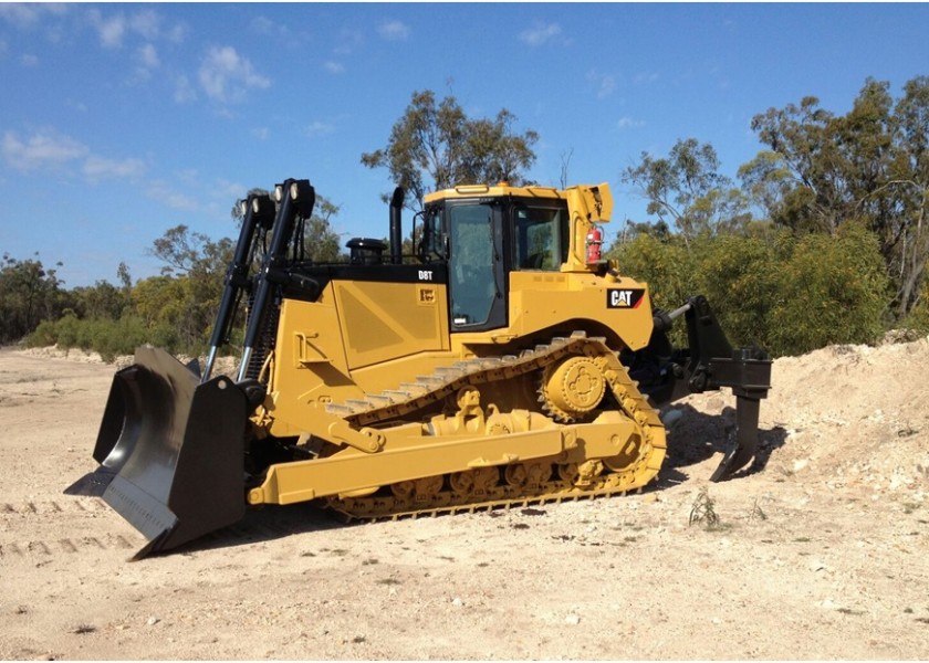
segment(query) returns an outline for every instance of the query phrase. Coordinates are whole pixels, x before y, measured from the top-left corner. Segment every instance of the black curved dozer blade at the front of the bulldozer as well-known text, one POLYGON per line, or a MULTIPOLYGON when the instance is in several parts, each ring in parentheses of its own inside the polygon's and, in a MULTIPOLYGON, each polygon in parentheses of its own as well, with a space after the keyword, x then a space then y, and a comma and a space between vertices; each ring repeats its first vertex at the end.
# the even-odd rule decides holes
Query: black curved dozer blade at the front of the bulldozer
POLYGON ((164 350, 136 350, 116 373, 93 456, 65 490, 97 495, 149 539, 175 548, 244 515, 247 400, 225 376, 200 383, 164 350))

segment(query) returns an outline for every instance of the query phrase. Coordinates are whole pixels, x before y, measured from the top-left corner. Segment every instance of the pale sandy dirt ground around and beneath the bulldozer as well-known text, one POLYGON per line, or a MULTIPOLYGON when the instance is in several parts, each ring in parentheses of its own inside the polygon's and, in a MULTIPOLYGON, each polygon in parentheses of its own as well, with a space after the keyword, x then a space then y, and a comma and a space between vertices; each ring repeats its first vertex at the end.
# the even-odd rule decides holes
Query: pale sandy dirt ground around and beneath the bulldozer
POLYGON ((131 562, 142 535, 62 494, 114 367, 2 349, 0 659, 929 659, 928 367, 925 338, 779 359, 758 466, 726 483, 733 399, 702 394, 641 494, 352 526, 269 507, 131 562), (714 527, 689 524, 701 491, 714 527))

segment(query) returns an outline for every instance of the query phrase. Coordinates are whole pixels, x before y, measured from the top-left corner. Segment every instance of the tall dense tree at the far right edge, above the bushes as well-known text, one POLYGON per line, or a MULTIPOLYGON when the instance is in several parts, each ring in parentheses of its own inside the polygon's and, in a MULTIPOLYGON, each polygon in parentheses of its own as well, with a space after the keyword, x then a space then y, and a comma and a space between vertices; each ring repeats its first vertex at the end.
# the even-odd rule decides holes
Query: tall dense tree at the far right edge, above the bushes
POLYGON ((916 304, 929 259, 929 77, 904 86, 868 78, 852 110, 836 116, 816 97, 752 119, 770 150, 740 169, 775 224, 835 236, 863 221, 877 235, 894 283, 893 306, 916 304))

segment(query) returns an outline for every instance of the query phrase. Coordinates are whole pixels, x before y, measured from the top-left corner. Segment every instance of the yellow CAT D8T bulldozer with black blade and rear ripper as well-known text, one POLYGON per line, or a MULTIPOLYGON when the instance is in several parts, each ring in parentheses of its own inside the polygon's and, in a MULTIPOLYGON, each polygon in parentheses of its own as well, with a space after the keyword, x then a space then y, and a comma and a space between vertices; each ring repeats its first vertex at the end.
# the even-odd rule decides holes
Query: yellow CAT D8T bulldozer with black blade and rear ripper
POLYGON ((309 180, 249 194, 203 365, 139 347, 114 377, 100 466, 65 492, 137 528, 137 558, 261 505, 378 519, 620 495, 661 469, 661 408, 721 388, 737 425, 712 481, 754 457, 768 354, 733 348, 706 297, 656 308, 604 259, 607 183, 429 193, 407 254, 404 202, 397 188, 389 242, 355 238, 347 262, 320 264, 309 180), (681 317, 687 348, 668 336, 681 317), (242 330, 238 369, 215 376, 242 330))

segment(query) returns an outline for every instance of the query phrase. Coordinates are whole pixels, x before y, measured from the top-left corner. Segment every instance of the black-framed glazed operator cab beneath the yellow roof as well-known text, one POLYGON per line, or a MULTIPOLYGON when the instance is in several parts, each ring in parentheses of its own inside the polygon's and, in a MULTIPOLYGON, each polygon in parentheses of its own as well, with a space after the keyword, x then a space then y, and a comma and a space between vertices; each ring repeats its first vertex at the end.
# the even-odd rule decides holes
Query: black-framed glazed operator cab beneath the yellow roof
MULTIPOLYGON (((473 189, 489 191, 455 191, 473 189)), ((419 257, 448 265, 452 332, 505 327, 510 272, 559 272, 567 252, 564 199, 464 194, 427 201, 419 257)))

